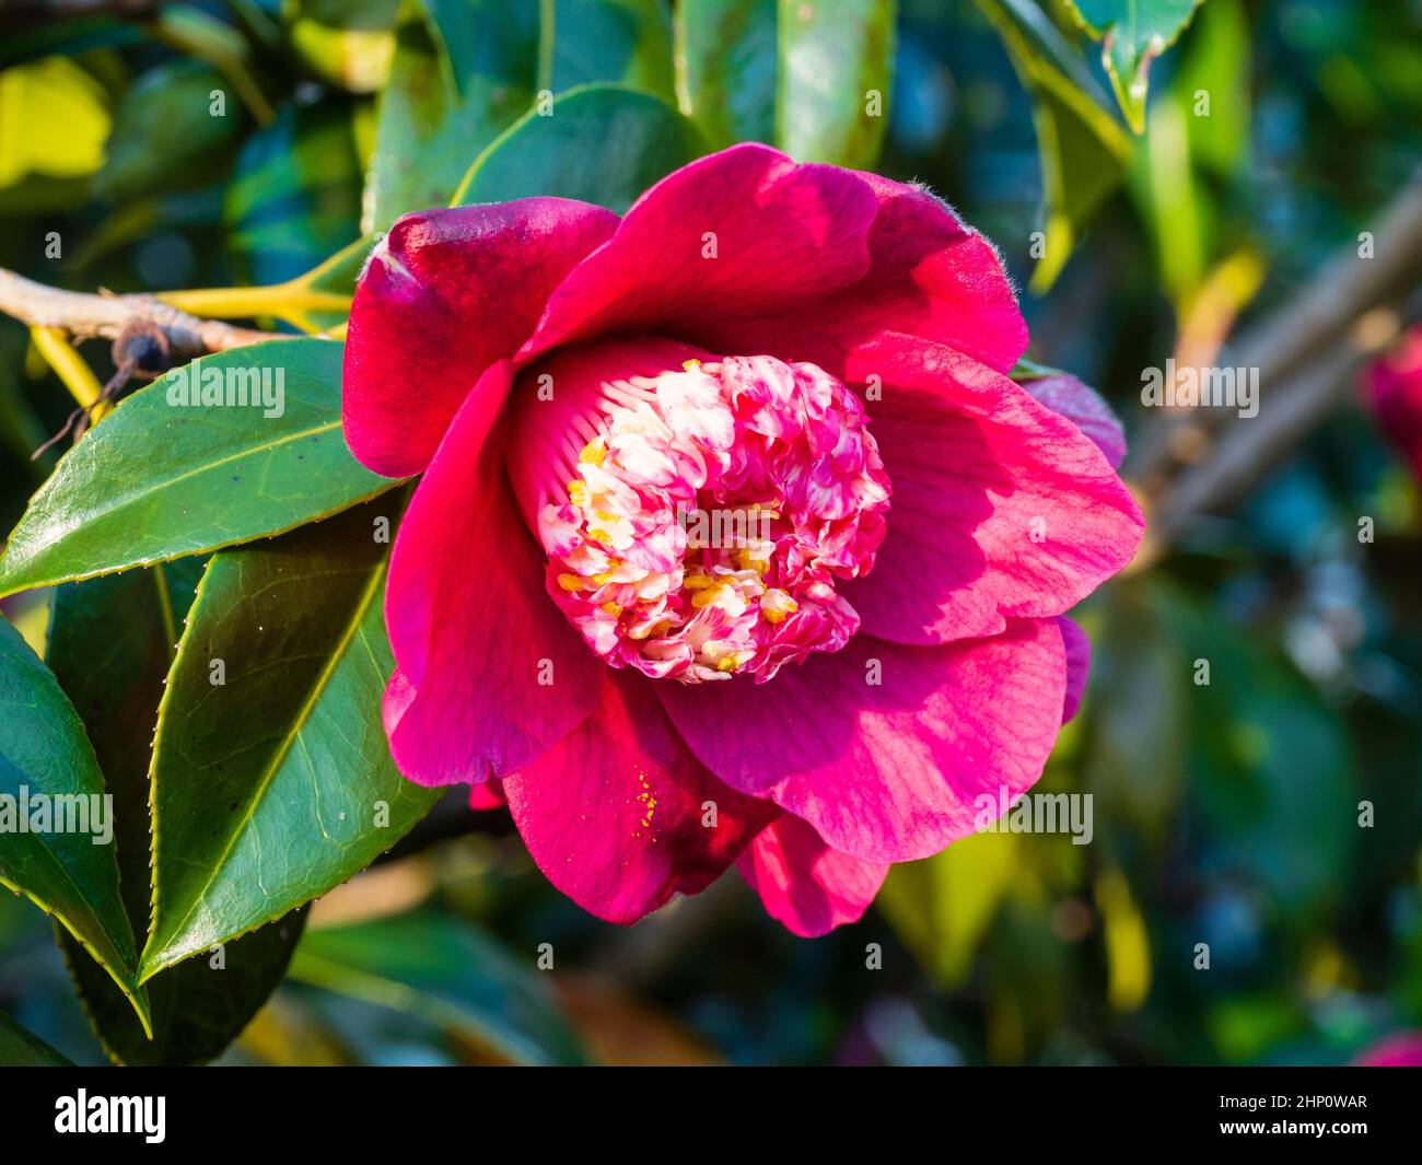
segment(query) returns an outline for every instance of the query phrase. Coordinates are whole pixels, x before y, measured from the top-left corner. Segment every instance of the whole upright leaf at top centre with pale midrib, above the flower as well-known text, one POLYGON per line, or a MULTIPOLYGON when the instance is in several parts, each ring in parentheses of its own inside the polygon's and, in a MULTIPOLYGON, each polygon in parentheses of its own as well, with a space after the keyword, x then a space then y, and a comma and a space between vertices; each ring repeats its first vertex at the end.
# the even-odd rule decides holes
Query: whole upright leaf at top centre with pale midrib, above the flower
POLYGON ((892 0, 687 0, 677 95, 717 149, 762 141, 803 162, 872 168, 893 81, 892 0))

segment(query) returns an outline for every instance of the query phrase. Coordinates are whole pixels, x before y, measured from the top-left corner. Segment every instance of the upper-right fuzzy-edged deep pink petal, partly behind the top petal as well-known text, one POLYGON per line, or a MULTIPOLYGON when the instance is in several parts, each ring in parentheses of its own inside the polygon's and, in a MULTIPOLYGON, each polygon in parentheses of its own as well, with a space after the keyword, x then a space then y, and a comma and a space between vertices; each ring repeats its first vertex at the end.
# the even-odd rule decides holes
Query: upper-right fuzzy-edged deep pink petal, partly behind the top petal
POLYGON ((811 312, 782 303, 754 319, 710 320, 695 339, 718 351, 809 360, 839 374, 852 349, 900 331, 1011 368, 1027 347, 1027 324, 993 245, 920 186, 857 178, 877 202, 862 279, 811 312))

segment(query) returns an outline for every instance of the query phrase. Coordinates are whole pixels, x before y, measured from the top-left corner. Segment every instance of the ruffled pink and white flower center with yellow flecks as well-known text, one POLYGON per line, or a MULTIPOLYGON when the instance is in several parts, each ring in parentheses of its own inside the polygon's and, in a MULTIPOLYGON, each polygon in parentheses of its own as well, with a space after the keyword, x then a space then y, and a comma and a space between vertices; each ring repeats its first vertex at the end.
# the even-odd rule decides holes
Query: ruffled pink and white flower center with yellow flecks
POLYGON ((859 629, 884 536, 863 405, 813 364, 600 344, 526 371, 513 485, 547 593, 613 667, 771 679, 859 629))

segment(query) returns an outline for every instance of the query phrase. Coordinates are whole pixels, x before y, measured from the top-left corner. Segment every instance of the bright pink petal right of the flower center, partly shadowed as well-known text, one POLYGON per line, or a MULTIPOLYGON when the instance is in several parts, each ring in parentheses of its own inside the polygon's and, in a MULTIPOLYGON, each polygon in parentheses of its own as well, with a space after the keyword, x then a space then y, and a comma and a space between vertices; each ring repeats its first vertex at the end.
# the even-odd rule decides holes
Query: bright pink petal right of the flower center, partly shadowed
POLYGON ((893 484, 873 572, 848 583, 897 643, 995 634, 1062 615, 1130 562, 1145 519, 1101 449, 1007 377, 902 337, 855 354, 877 376, 870 431, 893 484))

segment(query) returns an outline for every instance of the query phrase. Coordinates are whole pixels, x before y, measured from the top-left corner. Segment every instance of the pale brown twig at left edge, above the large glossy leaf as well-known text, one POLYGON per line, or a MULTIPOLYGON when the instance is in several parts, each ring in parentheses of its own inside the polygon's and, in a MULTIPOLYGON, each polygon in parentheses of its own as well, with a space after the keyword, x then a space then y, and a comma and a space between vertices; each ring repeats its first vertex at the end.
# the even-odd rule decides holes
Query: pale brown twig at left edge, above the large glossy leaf
POLYGON ((168 344, 172 364, 186 364, 209 351, 286 339, 273 331, 235 327, 189 316, 148 294, 90 294, 47 287, 0 267, 0 312, 31 327, 58 327, 75 339, 117 340, 124 329, 152 324, 168 344))

